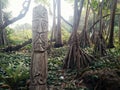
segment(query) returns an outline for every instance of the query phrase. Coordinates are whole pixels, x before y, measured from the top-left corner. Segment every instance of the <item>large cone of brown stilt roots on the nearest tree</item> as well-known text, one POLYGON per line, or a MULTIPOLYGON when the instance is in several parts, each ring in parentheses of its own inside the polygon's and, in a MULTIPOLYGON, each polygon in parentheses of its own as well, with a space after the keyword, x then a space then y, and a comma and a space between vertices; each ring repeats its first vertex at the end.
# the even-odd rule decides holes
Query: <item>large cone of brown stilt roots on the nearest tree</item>
POLYGON ((83 51, 80 46, 77 47, 76 43, 72 44, 69 47, 68 54, 64 60, 64 69, 80 69, 88 67, 93 61, 94 58, 91 55, 88 55, 83 51))

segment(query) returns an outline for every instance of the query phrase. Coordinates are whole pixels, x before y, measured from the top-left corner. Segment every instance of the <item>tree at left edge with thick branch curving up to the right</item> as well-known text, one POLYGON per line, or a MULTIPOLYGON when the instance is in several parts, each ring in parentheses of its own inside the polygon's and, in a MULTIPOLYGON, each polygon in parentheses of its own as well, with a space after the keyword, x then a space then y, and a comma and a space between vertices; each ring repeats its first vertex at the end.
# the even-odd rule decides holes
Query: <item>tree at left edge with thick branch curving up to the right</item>
POLYGON ((3 21, 3 11, 2 11, 3 6, 2 6, 2 3, 0 3, 0 45, 7 44, 7 36, 6 36, 5 28, 8 25, 18 21, 19 19, 23 18, 26 15, 30 6, 30 2, 31 0, 25 0, 23 2, 23 5, 22 5, 23 9, 20 11, 20 14, 17 17, 14 17, 13 19, 5 20, 5 21, 3 21))

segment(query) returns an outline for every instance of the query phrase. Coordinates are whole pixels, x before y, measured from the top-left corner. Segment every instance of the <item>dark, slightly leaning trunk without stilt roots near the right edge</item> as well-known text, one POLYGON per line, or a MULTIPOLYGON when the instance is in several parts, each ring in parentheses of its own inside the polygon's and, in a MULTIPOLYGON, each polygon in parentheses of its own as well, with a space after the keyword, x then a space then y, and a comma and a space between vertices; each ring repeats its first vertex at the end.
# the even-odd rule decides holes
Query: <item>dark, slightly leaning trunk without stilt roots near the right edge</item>
POLYGON ((109 36, 109 41, 108 41, 108 48, 113 48, 114 47, 114 20, 115 20, 115 10, 117 7, 117 0, 112 0, 112 7, 111 7, 111 15, 110 15, 110 25, 109 25, 109 30, 110 30, 110 36, 109 36))

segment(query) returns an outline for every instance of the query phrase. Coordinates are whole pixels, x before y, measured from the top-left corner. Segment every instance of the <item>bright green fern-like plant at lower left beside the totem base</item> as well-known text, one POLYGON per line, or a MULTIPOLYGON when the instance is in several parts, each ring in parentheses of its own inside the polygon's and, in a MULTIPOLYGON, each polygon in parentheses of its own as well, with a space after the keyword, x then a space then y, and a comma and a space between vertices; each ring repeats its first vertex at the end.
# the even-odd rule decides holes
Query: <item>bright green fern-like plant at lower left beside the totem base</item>
POLYGON ((18 65, 9 64, 7 68, 4 68, 5 74, 1 75, 3 79, 3 85, 9 86, 12 90, 18 90, 18 88, 25 87, 26 80, 29 78, 29 67, 23 62, 18 65))

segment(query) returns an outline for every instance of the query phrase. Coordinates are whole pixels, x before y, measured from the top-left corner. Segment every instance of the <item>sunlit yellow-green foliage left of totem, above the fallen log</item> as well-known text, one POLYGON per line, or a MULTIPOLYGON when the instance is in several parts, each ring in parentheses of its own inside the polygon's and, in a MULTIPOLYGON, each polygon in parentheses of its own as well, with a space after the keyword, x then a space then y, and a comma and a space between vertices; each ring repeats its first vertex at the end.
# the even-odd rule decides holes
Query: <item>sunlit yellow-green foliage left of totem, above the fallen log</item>
POLYGON ((32 37, 32 31, 26 28, 16 30, 7 28, 7 37, 10 45, 21 44, 32 37))

